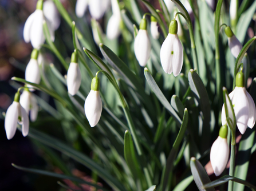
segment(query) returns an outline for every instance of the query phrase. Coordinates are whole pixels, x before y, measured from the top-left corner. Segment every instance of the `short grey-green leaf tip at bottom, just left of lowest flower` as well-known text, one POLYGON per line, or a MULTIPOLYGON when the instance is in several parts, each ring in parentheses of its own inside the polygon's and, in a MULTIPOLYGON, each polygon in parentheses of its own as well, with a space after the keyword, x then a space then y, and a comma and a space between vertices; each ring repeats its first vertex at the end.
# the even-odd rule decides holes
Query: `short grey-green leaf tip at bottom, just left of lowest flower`
MULTIPOLYGON (((210 178, 206 170, 203 168, 202 164, 195 157, 191 157, 190 159, 190 168, 191 173, 194 177, 194 181, 196 186, 200 191, 206 191, 205 188, 202 188, 203 185, 211 182, 210 178)), ((207 191, 215 191, 214 188, 207 189, 207 191)))

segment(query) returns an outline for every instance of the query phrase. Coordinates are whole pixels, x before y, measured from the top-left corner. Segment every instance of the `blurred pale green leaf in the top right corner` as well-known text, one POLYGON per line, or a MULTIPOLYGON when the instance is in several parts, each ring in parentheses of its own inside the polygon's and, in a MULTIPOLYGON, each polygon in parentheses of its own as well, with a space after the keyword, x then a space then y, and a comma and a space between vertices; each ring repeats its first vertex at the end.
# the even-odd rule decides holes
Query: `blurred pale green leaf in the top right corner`
POLYGON ((238 20, 237 27, 235 28, 235 35, 242 44, 245 40, 247 29, 251 23, 255 10, 256 1, 254 1, 254 3, 249 7, 249 9, 247 9, 238 20))

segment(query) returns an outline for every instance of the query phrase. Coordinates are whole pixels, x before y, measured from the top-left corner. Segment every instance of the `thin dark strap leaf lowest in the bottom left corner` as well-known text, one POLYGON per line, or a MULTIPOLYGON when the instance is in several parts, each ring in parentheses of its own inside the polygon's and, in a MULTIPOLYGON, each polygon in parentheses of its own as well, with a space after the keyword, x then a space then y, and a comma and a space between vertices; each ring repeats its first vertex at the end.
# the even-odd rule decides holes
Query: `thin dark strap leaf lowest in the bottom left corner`
POLYGON ((87 184, 87 185, 90 185, 90 186, 94 186, 97 189, 108 191, 107 189, 105 189, 105 188, 103 188, 103 187, 101 187, 97 184, 90 183, 90 182, 82 180, 81 178, 78 178, 78 177, 68 176, 68 175, 65 175, 65 174, 57 174, 57 173, 49 172, 49 171, 46 171, 46 170, 25 168, 25 167, 22 167, 22 166, 15 165, 13 163, 11 165, 13 165, 15 168, 17 168, 19 170, 23 170, 25 172, 31 172, 31 173, 34 173, 34 174, 41 174, 41 175, 56 177, 56 178, 61 178, 61 179, 68 179, 68 180, 75 181, 75 182, 78 182, 78 183, 81 183, 81 184, 87 184))

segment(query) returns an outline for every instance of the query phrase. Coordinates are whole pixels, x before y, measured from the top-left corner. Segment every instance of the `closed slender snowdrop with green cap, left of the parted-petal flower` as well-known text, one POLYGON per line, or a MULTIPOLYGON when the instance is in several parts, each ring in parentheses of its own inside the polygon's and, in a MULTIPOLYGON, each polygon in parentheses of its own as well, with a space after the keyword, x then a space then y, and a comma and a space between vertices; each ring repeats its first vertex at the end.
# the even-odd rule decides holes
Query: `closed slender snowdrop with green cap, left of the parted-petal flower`
POLYGON ((140 30, 134 41, 134 52, 140 66, 146 66, 151 51, 151 42, 147 32, 147 20, 141 19, 140 30))

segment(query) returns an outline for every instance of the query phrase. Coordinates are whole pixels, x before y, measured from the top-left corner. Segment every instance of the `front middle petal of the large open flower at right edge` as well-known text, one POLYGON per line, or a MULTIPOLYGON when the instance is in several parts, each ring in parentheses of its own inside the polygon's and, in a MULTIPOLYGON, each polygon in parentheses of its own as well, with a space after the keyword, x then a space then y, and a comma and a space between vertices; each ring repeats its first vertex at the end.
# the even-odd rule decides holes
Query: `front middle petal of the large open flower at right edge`
POLYGON ((237 118, 237 127, 243 134, 246 131, 249 119, 249 103, 245 88, 235 87, 234 91, 232 103, 234 104, 235 117, 237 118))

